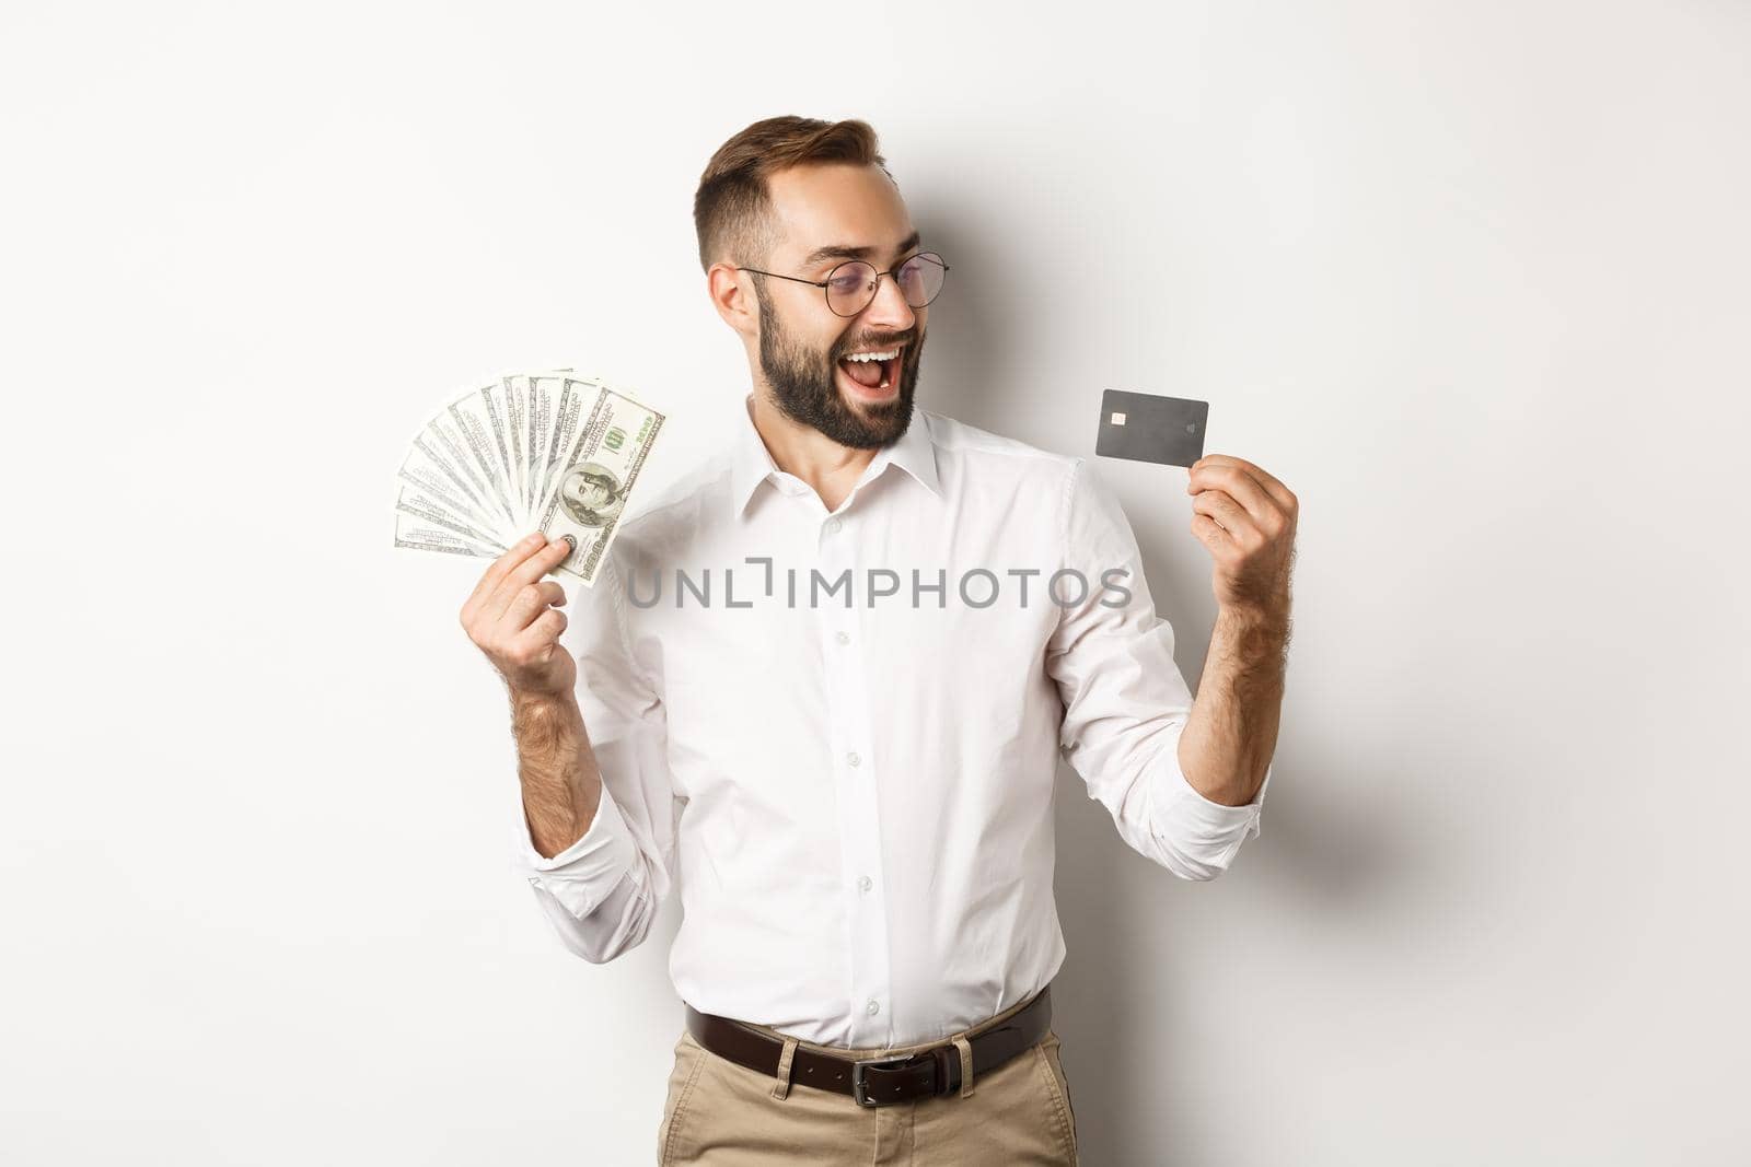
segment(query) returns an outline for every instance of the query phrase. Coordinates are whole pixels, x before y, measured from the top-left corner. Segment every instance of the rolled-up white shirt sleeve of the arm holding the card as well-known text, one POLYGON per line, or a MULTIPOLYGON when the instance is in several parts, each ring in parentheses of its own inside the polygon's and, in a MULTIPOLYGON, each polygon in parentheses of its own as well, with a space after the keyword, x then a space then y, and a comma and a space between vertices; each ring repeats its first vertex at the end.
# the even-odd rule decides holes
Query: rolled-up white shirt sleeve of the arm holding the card
POLYGON ((1205 798, 1180 768, 1192 693, 1173 660, 1173 626, 1156 614, 1131 525, 1086 458, 1075 458, 1063 499, 1065 569, 1054 586, 1059 618, 1045 670, 1065 705, 1059 749, 1112 814, 1119 836, 1187 880, 1222 875, 1259 833, 1271 768, 1254 800, 1205 798))

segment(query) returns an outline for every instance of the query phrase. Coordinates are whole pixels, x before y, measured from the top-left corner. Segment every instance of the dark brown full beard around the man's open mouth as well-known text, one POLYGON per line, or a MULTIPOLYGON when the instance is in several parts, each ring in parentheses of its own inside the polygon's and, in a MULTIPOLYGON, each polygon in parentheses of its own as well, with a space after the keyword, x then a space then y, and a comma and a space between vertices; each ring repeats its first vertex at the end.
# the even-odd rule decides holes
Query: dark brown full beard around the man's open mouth
POLYGON ((779 325, 772 303, 760 296, 760 373, 772 387, 779 413, 854 450, 881 450, 905 436, 912 423, 912 394, 918 388, 925 336, 914 334, 900 352, 895 369, 900 392, 893 401, 853 406, 839 388, 839 359, 872 346, 835 345, 826 353, 816 353, 795 345, 779 325))

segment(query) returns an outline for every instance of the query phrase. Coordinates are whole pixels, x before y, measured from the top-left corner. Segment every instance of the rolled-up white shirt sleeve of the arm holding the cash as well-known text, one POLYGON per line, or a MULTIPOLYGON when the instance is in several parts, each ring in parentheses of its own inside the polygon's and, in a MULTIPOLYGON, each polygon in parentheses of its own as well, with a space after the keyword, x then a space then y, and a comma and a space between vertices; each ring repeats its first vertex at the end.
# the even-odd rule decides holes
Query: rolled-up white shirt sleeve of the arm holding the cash
POLYGON ((578 709, 602 772, 590 828, 566 850, 536 850, 522 796, 513 854, 569 952, 604 964, 636 948, 667 899, 674 857, 674 793, 662 696, 639 668, 627 626, 616 541, 592 588, 571 586, 560 633, 578 661, 578 709))

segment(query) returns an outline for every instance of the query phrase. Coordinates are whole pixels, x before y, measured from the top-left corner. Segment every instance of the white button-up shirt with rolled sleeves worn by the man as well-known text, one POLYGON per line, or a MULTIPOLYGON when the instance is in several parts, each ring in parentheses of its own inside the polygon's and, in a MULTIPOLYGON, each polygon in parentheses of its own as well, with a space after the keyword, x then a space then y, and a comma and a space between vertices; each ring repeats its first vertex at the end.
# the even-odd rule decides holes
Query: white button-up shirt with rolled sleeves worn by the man
POLYGON ((669 975, 706 1013, 893 1046, 1038 992, 1059 756, 1182 878, 1259 833, 1269 770, 1245 807, 1180 772, 1173 628, 1080 457, 914 408, 828 513, 749 415, 566 611, 602 801, 545 859, 518 800, 518 861, 592 962, 678 891, 669 975))

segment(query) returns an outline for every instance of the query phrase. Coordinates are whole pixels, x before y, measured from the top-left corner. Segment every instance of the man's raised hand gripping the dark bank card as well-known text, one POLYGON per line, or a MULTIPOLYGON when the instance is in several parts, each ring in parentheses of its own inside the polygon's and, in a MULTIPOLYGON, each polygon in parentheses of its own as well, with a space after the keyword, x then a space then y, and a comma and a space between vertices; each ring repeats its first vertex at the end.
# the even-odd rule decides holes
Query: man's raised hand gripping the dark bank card
POLYGON ((1285 619, 1299 500, 1262 469, 1226 453, 1191 465, 1192 534, 1215 560, 1220 609, 1285 619))

